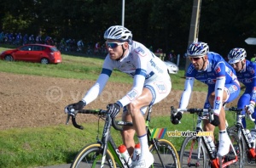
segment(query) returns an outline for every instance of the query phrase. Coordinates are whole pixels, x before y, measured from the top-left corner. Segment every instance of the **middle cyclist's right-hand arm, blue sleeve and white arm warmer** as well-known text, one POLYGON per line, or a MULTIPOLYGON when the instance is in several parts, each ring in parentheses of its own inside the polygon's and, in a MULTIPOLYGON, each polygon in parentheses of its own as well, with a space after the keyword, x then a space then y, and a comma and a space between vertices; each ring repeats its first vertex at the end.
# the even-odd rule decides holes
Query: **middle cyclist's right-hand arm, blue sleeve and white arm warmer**
POLYGON ((215 66, 214 71, 216 73, 216 83, 214 88, 215 98, 213 102, 213 110, 215 114, 219 115, 223 103, 223 93, 226 81, 224 62, 219 62, 215 66))

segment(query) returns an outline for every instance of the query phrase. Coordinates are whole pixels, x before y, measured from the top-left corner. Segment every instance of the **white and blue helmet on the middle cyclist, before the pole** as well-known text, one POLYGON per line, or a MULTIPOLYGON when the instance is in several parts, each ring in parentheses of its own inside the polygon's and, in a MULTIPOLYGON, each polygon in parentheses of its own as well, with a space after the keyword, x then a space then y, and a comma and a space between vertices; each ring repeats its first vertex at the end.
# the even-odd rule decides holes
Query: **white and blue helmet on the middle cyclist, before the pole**
POLYGON ((193 42, 190 44, 187 55, 189 57, 203 57, 209 52, 209 46, 205 42, 193 42))

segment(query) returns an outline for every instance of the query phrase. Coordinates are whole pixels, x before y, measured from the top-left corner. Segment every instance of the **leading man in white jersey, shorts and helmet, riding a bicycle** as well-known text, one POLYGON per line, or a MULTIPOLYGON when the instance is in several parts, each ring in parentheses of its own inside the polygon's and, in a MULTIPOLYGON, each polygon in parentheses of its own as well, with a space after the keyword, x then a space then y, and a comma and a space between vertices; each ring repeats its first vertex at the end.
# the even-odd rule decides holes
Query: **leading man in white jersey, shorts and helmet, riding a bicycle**
POLYGON ((108 104, 111 117, 115 117, 121 108, 127 105, 123 112, 123 120, 132 121, 134 126, 124 127, 122 137, 129 154, 133 153, 134 134, 137 133, 141 144, 141 156, 134 160, 134 167, 149 167, 153 164, 153 155, 148 150, 147 132, 143 115, 147 106, 160 102, 171 92, 171 78, 166 64, 151 53, 142 43, 132 41, 131 31, 120 25, 108 28, 104 33, 108 55, 104 60, 102 73, 95 85, 76 104, 67 107, 83 109, 100 95, 113 69, 118 69, 133 78, 130 92, 113 104, 108 104))

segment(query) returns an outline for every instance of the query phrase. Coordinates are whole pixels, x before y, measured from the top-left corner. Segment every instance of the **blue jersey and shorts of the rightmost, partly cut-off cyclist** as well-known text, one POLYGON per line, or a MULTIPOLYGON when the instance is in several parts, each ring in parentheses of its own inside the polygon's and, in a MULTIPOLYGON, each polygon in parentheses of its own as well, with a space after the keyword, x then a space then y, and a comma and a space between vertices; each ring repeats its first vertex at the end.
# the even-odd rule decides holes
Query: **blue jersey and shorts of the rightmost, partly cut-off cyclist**
MULTIPOLYGON (((245 87, 245 92, 241 95, 238 100, 237 108, 243 109, 242 114, 245 114, 245 106, 253 103, 255 104, 256 99, 256 64, 246 60, 245 69, 241 70, 240 72, 236 72, 236 76, 238 81, 240 81, 245 87)), ((256 119, 256 110, 254 110, 253 118, 256 119)), ((256 121, 255 121, 256 123, 256 121)), ((246 121, 245 119, 242 120, 243 126, 246 128, 246 121)))

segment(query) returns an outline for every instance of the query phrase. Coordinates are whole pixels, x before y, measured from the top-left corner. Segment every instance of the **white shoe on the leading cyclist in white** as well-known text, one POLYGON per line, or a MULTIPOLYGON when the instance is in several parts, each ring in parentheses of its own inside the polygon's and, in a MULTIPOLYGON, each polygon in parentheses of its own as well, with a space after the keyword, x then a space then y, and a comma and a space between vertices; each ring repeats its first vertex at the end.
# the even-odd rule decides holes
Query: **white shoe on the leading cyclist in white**
POLYGON ((140 157, 138 160, 132 160, 133 168, 148 168, 154 163, 154 156, 151 153, 146 154, 145 157, 140 157))

